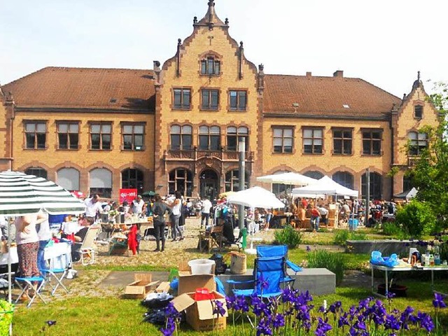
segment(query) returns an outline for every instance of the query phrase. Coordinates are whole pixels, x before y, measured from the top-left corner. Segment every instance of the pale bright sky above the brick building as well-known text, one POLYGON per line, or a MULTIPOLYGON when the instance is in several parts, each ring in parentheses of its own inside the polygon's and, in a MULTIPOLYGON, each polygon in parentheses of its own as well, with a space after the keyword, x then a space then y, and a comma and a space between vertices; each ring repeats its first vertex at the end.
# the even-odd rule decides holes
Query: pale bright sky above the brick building
MULTIPOLYGON (((0 1, 0 83, 45 66, 152 69, 208 0, 0 1)), ((402 97, 448 81, 447 0, 216 0, 265 73, 362 78, 402 97)))

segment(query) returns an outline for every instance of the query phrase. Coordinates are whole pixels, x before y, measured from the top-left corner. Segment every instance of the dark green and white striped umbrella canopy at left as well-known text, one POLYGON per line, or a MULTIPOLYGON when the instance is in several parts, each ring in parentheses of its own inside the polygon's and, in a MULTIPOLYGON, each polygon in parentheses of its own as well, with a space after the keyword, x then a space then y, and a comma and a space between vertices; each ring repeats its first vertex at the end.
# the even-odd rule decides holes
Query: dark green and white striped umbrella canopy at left
POLYGON ((39 210, 48 214, 83 214, 85 204, 52 181, 22 172, 0 173, 0 214, 23 216, 39 210))

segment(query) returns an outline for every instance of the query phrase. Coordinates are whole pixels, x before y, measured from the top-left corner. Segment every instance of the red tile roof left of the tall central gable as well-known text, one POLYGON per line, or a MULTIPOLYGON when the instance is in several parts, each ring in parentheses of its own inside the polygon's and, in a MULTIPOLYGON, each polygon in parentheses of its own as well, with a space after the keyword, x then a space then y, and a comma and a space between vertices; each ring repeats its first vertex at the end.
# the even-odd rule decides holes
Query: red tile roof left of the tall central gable
POLYGON ((155 111, 151 70, 48 67, 2 89, 18 107, 155 111))

